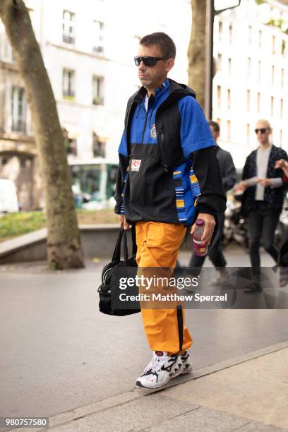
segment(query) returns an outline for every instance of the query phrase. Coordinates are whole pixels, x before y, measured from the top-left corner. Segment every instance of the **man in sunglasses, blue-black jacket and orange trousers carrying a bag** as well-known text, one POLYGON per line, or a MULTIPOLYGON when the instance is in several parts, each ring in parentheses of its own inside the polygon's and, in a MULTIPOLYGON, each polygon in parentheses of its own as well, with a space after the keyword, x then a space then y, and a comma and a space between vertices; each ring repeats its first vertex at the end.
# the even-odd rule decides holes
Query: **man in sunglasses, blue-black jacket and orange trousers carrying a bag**
MULTIPOLYGON (((140 40, 135 64, 142 87, 128 100, 119 145, 115 212, 124 229, 136 224, 138 268, 174 268, 197 212, 209 244, 213 214, 225 208, 215 142, 195 93, 167 78, 175 56, 165 33, 140 40)), ((141 313, 153 356, 136 385, 158 388, 191 370, 192 340, 181 306, 141 313)))

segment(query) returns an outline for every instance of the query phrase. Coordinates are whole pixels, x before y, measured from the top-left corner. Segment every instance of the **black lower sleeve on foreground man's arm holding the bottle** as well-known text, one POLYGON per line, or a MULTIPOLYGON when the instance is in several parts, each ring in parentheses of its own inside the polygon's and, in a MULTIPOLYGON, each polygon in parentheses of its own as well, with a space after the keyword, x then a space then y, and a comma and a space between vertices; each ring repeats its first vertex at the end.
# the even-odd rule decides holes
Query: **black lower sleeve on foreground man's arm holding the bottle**
POLYGON ((196 150, 189 155, 189 159, 192 161, 193 171, 200 186, 198 211, 211 215, 224 212, 226 196, 215 146, 196 150))

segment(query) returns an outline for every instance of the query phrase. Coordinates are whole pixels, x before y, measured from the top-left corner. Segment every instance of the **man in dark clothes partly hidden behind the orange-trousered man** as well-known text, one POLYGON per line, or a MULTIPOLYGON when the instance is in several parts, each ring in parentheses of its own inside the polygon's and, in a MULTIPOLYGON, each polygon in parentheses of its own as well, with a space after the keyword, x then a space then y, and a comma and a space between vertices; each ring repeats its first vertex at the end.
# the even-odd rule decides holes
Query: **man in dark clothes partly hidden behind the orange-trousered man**
MULTIPOLYGON (((216 121, 209 121, 209 126, 212 132, 212 137, 215 140, 217 145, 216 148, 216 157, 220 166, 220 173, 222 176, 222 183, 224 187, 224 192, 226 193, 229 189, 233 188, 236 181, 236 169, 232 160, 232 156, 226 150, 220 148, 217 144, 217 140, 220 137, 220 126, 216 123, 216 121)), ((227 277, 226 270, 226 260, 222 253, 222 235, 224 228, 224 212, 218 214, 218 224, 217 224, 217 233, 215 232, 214 236, 217 236, 215 239, 215 244, 212 244, 208 251, 208 256, 215 266, 218 275, 215 280, 212 281, 214 284, 221 284, 224 282, 225 277, 227 277)), ((213 243, 213 242, 212 242, 213 243)), ((189 268, 196 269, 199 272, 200 268, 202 268, 205 256, 196 256, 194 253, 191 256, 191 260, 189 263, 189 268)))

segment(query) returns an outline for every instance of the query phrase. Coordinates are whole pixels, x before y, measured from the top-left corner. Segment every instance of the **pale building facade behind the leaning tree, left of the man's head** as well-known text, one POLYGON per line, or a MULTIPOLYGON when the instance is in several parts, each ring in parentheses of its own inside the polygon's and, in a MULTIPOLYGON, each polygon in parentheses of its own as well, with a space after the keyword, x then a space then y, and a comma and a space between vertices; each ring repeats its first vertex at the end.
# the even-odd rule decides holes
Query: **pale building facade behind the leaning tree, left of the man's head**
MULTIPOLYGON (((116 161, 124 101, 137 89, 126 54, 131 39, 125 31, 115 35, 118 18, 109 14, 116 1, 84 0, 86 8, 75 0, 25 3, 54 90, 68 160, 106 156, 116 161)), ((0 101, 0 178, 15 181, 23 210, 42 208, 30 111, 2 23, 0 101)))

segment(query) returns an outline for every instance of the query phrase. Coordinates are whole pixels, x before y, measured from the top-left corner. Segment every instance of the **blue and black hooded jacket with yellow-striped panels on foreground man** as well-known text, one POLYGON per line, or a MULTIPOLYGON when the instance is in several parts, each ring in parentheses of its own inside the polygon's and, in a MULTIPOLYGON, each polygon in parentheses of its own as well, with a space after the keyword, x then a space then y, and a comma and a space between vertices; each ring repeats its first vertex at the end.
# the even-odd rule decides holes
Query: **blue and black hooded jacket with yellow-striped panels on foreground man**
POLYGON ((225 209, 216 146, 196 95, 173 80, 129 100, 119 145, 115 212, 128 222, 191 225, 225 209))

